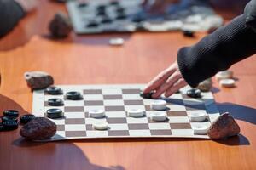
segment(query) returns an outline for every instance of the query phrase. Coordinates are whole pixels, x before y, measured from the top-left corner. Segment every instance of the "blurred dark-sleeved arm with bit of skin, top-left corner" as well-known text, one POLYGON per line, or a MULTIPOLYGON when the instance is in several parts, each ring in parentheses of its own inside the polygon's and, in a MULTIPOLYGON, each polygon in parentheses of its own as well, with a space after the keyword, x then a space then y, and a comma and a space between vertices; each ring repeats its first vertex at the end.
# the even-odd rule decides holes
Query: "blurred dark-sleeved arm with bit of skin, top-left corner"
POLYGON ((36 0, 0 0, 0 37, 11 31, 35 5, 36 0))

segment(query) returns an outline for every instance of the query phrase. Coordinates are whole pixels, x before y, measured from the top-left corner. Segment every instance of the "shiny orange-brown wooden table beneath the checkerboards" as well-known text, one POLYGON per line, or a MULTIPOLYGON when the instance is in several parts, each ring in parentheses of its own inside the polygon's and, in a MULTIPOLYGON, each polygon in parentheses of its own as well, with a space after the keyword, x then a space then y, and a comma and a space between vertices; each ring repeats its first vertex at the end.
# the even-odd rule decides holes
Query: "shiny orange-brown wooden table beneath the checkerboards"
MULTIPOLYGON (((7 37, 0 40, 0 111, 32 111, 25 71, 47 71, 56 84, 146 83, 170 65, 178 48, 198 41, 178 32, 99 35, 50 40, 47 26, 58 3, 39 1, 7 37), (110 47, 110 37, 124 37, 123 47, 110 47)), ((0 169, 255 169, 256 58, 234 65, 236 88, 213 92, 221 112, 230 111, 241 127, 238 137, 201 139, 100 139, 29 143, 19 130, 0 133, 0 169), (113 168, 114 166, 115 168, 113 168)))

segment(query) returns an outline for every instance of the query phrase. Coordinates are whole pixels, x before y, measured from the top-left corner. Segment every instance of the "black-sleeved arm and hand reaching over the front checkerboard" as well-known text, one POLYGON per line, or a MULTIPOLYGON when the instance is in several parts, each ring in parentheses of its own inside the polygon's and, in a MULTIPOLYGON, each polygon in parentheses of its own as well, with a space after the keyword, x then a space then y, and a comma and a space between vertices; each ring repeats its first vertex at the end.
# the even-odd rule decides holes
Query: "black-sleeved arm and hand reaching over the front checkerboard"
POLYGON ((256 0, 247 4, 245 14, 231 20, 204 37, 194 46, 181 48, 174 63, 148 83, 144 93, 155 90, 153 98, 166 93, 170 96, 187 83, 199 82, 224 71, 231 65, 256 53, 256 0))

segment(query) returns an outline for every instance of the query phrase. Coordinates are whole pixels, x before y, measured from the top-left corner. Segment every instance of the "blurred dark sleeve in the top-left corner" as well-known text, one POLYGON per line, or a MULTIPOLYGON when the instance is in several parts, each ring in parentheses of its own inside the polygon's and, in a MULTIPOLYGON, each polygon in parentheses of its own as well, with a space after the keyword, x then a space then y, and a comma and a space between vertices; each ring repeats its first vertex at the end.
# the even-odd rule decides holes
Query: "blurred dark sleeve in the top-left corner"
POLYGON ((0 0, 0 37, 11 31, 24 16, 24 11, 13 0, 0 0))

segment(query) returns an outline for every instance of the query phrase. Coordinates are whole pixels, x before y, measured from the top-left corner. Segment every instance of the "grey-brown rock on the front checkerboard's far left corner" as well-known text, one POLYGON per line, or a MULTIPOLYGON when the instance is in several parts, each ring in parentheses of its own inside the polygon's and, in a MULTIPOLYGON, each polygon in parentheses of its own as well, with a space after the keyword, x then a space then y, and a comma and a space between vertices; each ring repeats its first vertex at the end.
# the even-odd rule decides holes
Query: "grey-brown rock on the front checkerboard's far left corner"
POLYGON ((32 90, 47 88, 54 83, 53 77, 43 71, 26 72, 24 77, 28 87, 32 90))

